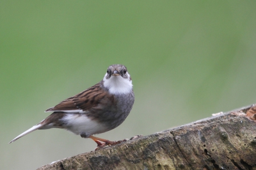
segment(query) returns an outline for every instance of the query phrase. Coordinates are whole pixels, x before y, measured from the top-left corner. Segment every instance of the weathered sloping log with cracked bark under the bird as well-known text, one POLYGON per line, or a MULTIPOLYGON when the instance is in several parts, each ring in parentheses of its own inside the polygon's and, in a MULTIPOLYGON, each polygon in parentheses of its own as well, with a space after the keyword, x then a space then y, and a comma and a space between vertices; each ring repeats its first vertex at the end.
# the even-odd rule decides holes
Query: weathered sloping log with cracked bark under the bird
POLYGON ((256 107, 82 153, 46 169, 256 169, 256 107), (254 118, 255 116, 255 118, 254 118))

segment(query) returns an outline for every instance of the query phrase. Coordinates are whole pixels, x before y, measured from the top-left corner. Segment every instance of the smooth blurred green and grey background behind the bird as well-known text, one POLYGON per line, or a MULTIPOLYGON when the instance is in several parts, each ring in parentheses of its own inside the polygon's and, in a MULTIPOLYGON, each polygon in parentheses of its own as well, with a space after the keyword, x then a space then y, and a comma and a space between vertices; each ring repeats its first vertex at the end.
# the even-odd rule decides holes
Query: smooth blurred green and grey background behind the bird
POLYGON ((127 66, 134 107, 119 140, 256 103, 256 1, 1 1, 1 169, 36 169, 92 151, 37 130, 45 109, 127 66))

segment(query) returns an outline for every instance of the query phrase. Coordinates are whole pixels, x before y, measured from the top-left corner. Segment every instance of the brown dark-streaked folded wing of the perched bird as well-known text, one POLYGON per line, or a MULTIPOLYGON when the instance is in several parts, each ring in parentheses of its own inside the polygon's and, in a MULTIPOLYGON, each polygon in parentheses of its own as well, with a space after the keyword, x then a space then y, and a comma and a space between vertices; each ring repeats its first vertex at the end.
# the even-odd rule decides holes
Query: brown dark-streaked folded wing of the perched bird
POLYGON ((100 104, 102 98, 104 98, 108 93, 104 89, 100 88, 100 82, 95 84, 91 88, 88 88, 81 93, 75 95, 74 97, 67 98, 60 102, 60 104, 55 105, 47 109, 47 111, 72 111, 77 109, 82 109, 86 111, 96 105, 100 104))

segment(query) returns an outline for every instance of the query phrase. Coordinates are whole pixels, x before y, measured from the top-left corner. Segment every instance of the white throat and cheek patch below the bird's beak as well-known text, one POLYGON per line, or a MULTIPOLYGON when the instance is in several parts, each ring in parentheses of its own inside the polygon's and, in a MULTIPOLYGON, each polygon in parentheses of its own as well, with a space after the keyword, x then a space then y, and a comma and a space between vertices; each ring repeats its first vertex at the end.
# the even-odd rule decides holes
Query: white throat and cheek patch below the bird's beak
MULTIPOLYGON (((129 73, 127 72, 129 75, 129 73)), ((108 75, 108 73, 106 73, 108 75)), ((130 75, 127 79, 124 79, 121 75, 111 76, 109 79, 106 79, 106 75, 103 79, 103 85, 105 88, 109 89, 111 94, 125 94, 130 93, 132 90, 132 81, 130 81, 130 75)))

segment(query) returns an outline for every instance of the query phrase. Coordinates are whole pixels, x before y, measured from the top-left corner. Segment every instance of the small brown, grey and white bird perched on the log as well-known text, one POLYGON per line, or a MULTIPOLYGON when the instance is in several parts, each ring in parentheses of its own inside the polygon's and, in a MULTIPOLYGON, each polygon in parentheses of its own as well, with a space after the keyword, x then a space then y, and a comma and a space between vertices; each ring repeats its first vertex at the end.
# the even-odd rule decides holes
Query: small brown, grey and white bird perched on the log
POLYGON ((63 128, 93 139, 97 148, 122 143, 124 140, 109 141, 93 135, 118 127, 129 115, 133 104, 132 79, 126 66, 110 65, 102 81, 47 109, 45 112, 52 114, 10 143, 35 130, 49 128, 63 128))

